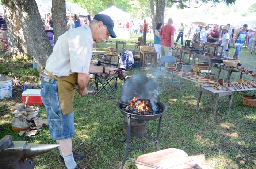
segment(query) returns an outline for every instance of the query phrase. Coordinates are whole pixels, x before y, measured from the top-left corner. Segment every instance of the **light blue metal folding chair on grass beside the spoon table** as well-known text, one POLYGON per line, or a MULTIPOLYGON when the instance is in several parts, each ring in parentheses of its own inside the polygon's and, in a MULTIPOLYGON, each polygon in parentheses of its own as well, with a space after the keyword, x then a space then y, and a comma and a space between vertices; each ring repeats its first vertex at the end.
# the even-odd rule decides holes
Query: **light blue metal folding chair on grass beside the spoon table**
MULTIPOLYGON (((163 80, 163 87, 164 87, 164 90, 165 90, 165 85, 164 83, 173 83, 173 82, 178 82, 179 83, 179 89, 181 90, 181 86, 180 86, 180 77, 177 76, 178 80, 174 81, 174 76, 175 74, 172 75, 172 81, 164 81, 164 74, 169 74, 169 72, 167 72, 166 70, 163 70, 163 66, 162 66, 162 63, 165 62, 165 63, 170 63, 172 62, 174 64, 174 66, 177 67, 177 62, 176 62, 176 58, 174 56, 161 56, 160 58, 160 70, 159 70, 159 73, 158 73, 158 76, 157 76, 157 81, 158 82, 158 79, 159 79, 159 76, 160 76, 160 73, 162 75, 162 80, 163 80)), ((165 77, 165 78, 170 78, 170 77, 165 77)))

